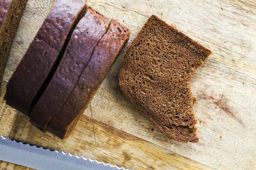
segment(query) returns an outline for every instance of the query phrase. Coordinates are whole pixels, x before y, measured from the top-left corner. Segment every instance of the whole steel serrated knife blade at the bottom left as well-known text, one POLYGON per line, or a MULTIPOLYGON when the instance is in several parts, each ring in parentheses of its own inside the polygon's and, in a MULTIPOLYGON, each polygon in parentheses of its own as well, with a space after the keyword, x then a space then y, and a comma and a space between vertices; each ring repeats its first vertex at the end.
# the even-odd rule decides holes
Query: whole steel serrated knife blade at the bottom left
POLYGON ((37 170, 126 170, 82 156, 31 146, 3 136, 0 136, 0 160, 37 170))

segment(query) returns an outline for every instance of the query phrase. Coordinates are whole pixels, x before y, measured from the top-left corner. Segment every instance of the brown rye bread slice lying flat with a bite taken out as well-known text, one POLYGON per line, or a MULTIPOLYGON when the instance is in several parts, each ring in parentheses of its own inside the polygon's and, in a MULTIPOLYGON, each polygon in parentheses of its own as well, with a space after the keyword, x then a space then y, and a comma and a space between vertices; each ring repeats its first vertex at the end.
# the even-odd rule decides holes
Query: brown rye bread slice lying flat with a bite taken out
POLYGON ((211 51, 157 16, 128 47, 120 70, 123 94, 158 129, 182 142, 198 142, 190 80, 211 51))

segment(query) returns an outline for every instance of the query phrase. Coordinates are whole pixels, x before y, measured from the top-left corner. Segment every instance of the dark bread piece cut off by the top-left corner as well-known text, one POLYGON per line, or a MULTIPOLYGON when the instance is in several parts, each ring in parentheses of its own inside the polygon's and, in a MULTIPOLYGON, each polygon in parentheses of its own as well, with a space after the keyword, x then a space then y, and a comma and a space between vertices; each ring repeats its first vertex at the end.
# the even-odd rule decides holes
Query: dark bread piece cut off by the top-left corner
POLYGON ((12 42, 28 0, 0 0, 0 92, 12 42))

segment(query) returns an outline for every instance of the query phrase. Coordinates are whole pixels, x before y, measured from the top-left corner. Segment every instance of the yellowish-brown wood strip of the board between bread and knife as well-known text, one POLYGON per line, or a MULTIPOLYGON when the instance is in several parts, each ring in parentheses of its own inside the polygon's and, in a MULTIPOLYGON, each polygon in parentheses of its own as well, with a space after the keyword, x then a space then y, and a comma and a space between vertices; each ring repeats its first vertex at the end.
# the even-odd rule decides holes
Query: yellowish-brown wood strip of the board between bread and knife
POLYGON ((61 140, 49 132, 42 133, 30 123, 27 116, 7 106, 2 96, 0 103, 3 106, 0 111, 0 134, 17 141, 49 147, 51 150, 62 150, 134 170, 212 169, 98 120, 93 121, 94 138, 93 123, 91 118, 85 115, 81 117, 72 135, 61 140))

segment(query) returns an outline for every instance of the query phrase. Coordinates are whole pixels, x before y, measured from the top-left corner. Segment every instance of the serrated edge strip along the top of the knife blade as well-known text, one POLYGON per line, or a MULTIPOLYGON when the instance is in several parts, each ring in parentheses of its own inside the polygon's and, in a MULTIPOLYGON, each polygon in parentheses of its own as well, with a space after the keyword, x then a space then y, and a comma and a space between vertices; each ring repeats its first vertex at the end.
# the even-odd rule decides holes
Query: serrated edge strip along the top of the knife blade
POLYGON ((0 145, 5 145, 7 147, 16 148, 25 152, 46 156, 51 159, 57 159, 58 161, 64 161, 66 163, 90 168, 92 170, 95 170, 95 168, 97 168, 97 170, 131 170, 125 169, 123 167, 118 167, 117 165, 111 165, 110 163, 104 163, 97 160, 91 160, 90 158, 84 158, 83 156, 78 156, 76 154, 73 155, 70 153, 65 153, 63 151, 37 147, 36 145, 30 145, 29 143, 25 144, 23 142, 11 140, 10 138, 5 138, 4 136, 0 136, 0 145))

